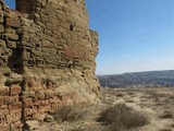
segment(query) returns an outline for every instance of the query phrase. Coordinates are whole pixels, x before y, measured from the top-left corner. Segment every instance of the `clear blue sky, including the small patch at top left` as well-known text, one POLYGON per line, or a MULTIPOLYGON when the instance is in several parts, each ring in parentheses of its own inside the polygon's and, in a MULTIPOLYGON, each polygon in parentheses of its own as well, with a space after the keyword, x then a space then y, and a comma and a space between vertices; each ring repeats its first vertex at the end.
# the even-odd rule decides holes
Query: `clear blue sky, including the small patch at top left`
MULTIPOLYGON (((5 0, 14 8, 15 0, 5 0)), ((174 0, 86 0, 97 74, 174 70, 174 0)))

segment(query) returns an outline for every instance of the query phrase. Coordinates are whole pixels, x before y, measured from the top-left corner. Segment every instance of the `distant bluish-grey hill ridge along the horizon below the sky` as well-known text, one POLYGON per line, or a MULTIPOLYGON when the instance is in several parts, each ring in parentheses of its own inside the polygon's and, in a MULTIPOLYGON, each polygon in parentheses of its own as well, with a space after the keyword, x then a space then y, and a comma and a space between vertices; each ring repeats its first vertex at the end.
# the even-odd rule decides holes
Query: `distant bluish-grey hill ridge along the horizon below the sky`
POLYGON ((174 86, 174 70, 98 75, 102 87, 174 86))

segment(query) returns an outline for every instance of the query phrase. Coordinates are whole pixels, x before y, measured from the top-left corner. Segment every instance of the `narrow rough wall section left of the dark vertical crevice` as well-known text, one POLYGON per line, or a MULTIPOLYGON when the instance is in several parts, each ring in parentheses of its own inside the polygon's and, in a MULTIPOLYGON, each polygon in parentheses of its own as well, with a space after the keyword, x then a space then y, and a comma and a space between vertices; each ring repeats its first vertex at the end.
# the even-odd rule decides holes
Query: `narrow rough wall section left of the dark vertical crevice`
POLYGON ((20 14, 0 1, 0 130, 22 128, 20 14))

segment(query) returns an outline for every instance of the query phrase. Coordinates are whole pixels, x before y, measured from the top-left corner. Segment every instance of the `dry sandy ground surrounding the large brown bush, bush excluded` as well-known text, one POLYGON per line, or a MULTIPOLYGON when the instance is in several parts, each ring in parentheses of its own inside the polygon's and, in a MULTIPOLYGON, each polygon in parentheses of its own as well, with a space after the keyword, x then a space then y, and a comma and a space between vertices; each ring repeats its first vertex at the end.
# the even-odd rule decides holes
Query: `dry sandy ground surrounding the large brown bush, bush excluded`
MULTIPOLYGON (((74 109, 67 121, 39 122, 39 131, 108 131, 98 121, 100 114, 117 104, 142 112, 149 123, 129 131, 174 131, 174 88, 102 88, 102 102, 84 109, 74 109)), ((65 109, 64 109, 65 110, 65 109)), ((70 111, 70 110, 69 110, 70 111)), ((69 114, 69 111, 62 114, 69 114)), ((57 117, 57 116, 54 116, 57 117)), ((35 129, 34 129, 35 130, 35 129)))

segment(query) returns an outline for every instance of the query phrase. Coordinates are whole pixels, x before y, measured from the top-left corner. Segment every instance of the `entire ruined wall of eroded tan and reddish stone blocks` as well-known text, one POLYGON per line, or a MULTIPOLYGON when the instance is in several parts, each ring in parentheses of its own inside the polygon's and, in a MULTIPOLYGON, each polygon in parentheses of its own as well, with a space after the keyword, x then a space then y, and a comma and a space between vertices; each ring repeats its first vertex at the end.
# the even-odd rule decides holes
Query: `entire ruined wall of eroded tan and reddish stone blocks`
POLYGON ((16 10, 0 2, 0 129, 99 103, 98 34, 85 1, 16 0, 16 10))

